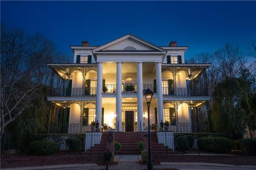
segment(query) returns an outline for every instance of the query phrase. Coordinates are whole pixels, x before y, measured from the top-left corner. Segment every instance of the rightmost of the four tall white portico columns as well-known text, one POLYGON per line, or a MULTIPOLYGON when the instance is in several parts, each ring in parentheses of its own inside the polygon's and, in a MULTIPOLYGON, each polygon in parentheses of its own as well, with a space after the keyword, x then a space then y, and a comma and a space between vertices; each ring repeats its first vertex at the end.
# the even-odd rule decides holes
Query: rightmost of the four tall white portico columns
POLYGON ((160 127, 163 116, 163 91, 162 91, 162 68, 161 63, 156 63, 156 91, 157 91, 157 121, 160 127))

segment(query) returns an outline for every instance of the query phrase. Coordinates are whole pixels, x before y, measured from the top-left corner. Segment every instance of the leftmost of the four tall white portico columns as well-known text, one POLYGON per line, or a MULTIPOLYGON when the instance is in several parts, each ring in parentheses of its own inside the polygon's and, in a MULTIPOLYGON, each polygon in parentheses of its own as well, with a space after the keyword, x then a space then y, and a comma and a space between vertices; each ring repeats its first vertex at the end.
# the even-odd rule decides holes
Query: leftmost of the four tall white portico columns
POLYGON ((96 117, 95 122, 100 123, 101 126, 101 112, 102 112, 102 62, 98 62, 98 69, 97 69, 97 91, 96 91, 96 117))

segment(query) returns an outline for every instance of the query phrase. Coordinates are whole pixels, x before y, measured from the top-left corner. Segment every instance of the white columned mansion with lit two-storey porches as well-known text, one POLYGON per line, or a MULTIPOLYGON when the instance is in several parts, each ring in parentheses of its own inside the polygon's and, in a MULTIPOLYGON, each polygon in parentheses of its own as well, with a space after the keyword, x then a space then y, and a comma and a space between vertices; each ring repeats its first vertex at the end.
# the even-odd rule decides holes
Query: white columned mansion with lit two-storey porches
MULTIPOLYGON (((91 122, 102 130, 143 131, 170 122, 170 131, 207 130, 205 70, 187 64, 187 46, 156 46, 131 34, 102 46, 70 46, 74 62, 52 69, 49 131, 84 133, 91 122), (154 91, 150 125, 144 89, 154 91)), ((158 128, 157 128, 158 127, 158 128)))

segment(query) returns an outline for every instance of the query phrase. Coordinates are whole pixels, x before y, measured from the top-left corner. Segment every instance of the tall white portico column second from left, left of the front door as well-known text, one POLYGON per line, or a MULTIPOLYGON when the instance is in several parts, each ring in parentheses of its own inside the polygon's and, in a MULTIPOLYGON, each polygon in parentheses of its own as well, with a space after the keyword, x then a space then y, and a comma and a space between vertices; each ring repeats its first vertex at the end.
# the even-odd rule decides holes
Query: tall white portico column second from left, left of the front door
POLYGON ((116 131, 122 131, 122 63, 116 63, 116 131))

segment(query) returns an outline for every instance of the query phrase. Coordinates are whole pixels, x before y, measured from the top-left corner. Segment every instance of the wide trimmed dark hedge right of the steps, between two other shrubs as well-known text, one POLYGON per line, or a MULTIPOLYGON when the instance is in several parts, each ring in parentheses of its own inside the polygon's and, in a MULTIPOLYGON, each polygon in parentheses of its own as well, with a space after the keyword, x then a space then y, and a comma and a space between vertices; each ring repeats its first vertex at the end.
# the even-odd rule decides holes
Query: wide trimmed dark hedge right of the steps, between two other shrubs
POLYGON ((198 138, 197 146, 202 151, 226 153, 231 151, 232 142, 224 137, 202 137, 198 138))

